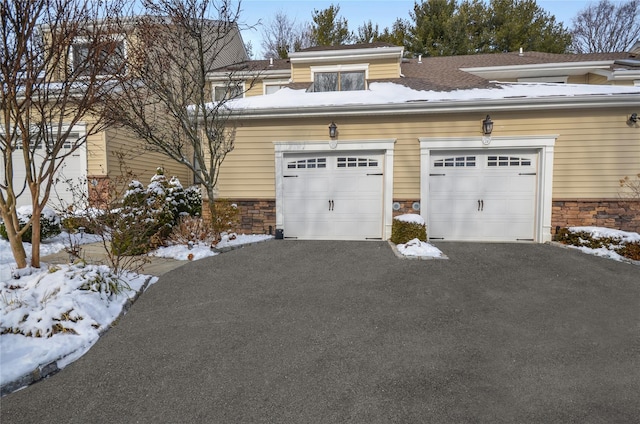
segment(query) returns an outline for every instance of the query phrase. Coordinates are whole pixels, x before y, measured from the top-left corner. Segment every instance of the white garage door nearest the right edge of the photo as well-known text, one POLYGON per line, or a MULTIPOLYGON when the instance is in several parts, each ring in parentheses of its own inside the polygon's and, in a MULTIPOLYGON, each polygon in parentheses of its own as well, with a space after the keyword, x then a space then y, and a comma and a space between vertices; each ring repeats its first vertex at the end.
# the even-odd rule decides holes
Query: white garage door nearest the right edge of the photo
POLYGON ((534 239, 535 151, 438 152, 429 169, 431 239, 534 239))

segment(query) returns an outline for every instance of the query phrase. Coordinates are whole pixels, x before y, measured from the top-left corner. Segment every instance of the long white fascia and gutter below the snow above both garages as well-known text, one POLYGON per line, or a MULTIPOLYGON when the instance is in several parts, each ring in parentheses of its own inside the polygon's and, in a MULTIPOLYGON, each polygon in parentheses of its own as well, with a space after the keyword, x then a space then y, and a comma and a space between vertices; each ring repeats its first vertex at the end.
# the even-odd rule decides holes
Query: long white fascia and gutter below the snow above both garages
POLYGON ((371 115, 417 115, 425 113, 464 113, 477 112, 481 107, 487 111, 535 111, 535 110, 569 110, 593 109, 602 107, 637 106, 636 94, 627 95, 593 95, 581 97, 545 97, 518 99, 487 99, 454 102, 408 102, 401 104, 348 105, 336 107, 287 108, 264 110, 239 110, 231 113, 230 119, 262 119, 262 118, 302 118, 324 116, 371 116, 371 115))

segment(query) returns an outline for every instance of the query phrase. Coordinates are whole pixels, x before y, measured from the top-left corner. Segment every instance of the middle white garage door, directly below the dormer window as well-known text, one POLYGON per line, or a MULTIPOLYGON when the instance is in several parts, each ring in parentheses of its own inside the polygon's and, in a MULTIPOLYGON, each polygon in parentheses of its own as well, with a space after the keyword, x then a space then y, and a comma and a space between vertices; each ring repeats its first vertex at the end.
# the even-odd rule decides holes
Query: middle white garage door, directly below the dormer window
POLYGON ((382 238, 383 155, 287 155, 284 236, 318 240, 382 238))

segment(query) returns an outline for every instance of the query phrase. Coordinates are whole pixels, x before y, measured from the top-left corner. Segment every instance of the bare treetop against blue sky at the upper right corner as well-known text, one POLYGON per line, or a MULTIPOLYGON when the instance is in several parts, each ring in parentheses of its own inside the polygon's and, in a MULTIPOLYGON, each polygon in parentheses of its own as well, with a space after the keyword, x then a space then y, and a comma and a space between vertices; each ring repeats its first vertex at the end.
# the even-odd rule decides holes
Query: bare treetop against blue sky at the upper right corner
POLYGON ((628 50, 640 39, 640 0, 590 4, 573 18, 572 36, 576 53, 628 50))

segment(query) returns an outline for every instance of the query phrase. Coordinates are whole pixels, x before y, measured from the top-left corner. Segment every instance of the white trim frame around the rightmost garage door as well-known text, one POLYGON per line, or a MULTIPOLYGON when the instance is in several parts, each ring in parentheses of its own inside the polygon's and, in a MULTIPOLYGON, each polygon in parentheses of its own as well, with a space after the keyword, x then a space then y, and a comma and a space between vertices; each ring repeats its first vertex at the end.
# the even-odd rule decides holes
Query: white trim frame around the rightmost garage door
MULTIPOLYGON (((491 144, 483 144, 482 137, 420 137, 420 201, 423 205, 429 199, 429 172, 431 155, 442 150, 535 150, 538 159, 538 198, 536 202, 536 222, 534 240, 538 243, 551 241, 551 211, 553 196, 553 157, 558 134, 539 136, 492 137, 491 144)), ((428 208, 421 208, 421 214, 429 228, 428 208)))

